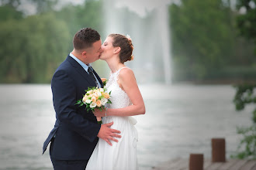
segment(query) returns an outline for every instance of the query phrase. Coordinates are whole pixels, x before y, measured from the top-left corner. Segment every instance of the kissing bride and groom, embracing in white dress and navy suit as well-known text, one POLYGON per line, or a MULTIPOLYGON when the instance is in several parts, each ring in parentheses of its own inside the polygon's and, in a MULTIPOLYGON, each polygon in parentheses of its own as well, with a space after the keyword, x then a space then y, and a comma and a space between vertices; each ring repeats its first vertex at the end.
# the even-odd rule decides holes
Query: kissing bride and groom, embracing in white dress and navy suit
POLYGON ((84 28, 74 35, 73 46, 51 80, 56 122, 43 153, 50 144, 54 170, 138 169, 137 121, 132 116, 145 114, 145 105, 133 70, 124 64, 133 59, 132 39, 110 34, 102 44, 99 32, 84 28), (98 59, 111 70, 106 90, 112 104, 92 112, 75 104, 88 87, 103 87, 91 66, 98 59))

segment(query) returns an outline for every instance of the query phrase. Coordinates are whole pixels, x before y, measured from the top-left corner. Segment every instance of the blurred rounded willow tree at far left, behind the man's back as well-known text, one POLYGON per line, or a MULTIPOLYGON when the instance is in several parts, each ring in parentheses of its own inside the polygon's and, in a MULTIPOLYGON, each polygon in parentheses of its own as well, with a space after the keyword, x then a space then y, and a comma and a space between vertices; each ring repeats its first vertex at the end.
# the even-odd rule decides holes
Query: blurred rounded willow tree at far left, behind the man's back
POLYGON ((0 37, 2 83, 50 83, 67 56, 67 26, 51 14, 2 22, 0 37))

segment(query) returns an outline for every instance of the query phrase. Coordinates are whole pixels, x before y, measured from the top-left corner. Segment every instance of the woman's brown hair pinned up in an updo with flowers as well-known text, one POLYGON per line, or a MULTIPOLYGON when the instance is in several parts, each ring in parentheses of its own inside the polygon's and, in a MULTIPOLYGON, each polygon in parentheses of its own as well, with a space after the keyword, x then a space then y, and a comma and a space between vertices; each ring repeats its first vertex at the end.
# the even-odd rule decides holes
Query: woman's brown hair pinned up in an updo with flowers
POLYGON ((133 43, 130 37, 121 34, 109 34, 112 37, 112 46, 121 48, 119 58, 121 63, 133 60, 133 43))

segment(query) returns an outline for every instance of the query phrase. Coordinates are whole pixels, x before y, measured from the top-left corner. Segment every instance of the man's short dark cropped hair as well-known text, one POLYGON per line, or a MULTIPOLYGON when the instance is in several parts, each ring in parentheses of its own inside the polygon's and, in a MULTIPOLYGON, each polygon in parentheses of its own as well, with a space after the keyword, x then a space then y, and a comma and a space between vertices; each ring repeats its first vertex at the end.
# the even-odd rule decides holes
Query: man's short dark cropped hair
POLYGON ((84 28, 75 33, 73 38, 74 49, 86 49, 92 47, 92 44, 100 40, 99 32, 95 29, 84 28))

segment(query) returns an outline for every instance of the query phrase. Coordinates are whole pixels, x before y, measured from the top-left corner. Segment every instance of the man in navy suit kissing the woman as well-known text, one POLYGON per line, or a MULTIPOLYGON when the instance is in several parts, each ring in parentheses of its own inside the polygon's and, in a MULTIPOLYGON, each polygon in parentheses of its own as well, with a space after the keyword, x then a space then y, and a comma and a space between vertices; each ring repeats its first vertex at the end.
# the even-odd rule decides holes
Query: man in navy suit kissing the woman
POLYGON ((84 170, 99 138, 112 145, 110 140, 117 142, 116 138, 121 137, 120 131, 109 128, 113 123, 97 124, 92 112, 74 105, 88 87, 103 87, 89 64, 99 59, 101 45, 99 33, 94 29, 76 32, 73 51, 51 81, 56 122, 43 143, 43 153, 50 143, 50 159, 55 170, 84 170))

